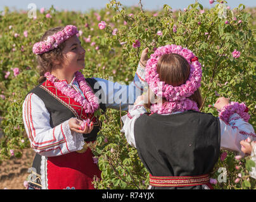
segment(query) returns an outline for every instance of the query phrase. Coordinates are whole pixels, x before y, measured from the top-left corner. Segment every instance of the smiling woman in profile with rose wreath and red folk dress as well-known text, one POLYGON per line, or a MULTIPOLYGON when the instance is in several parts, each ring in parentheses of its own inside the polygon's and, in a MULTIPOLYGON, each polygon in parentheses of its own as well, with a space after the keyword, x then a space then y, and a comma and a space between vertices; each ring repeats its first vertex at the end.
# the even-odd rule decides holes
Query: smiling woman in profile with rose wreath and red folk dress
MULTIPOLYGON (((127 110, 129 100, 141 95, 140 65, 129 86, 84 78, 79 70, 86 51, 77 33, 73 25, 51 28, 33 46, 41 77, 23 102, 25 130, 36 152, 29 189, 94 189, 92 181, 101 174, 88 147, 99 131, 94 112, 127 110)), ((144 56, 146 51, 141 62, 144 56)))

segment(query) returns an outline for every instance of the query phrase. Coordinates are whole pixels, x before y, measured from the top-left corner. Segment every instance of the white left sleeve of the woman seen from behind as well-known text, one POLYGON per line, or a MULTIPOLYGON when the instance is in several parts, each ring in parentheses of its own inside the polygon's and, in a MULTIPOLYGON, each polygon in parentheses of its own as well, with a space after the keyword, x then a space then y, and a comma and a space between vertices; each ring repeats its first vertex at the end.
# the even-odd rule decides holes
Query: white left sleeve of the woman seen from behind
POLYGON ((146 109, 142 105, 141 101, 138 105, 129 106, 129 112, 122 117, 124 126, 121 132, 125 134, 125 138, 129 145, 136 148, 135 138, 134 138, 134 124, 139 116, 146 113, 146 109))

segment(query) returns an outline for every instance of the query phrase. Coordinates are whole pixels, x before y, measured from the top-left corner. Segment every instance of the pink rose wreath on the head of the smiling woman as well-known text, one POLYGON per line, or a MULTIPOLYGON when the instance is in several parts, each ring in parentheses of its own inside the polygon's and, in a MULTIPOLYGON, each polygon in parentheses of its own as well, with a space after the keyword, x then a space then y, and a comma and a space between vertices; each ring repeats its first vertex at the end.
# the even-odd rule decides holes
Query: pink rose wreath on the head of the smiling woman
POLYGON ((60 44, 65 42, 65 40, 70 39, 73 35, 79 33, 77 27, 74 25, 67 25, 60 32, 54 33, 48 37, 47 40, 42 42, 37 42, 33 45, 33 53, 36 55, 48 52, 49 50, 56 49, 60 44))

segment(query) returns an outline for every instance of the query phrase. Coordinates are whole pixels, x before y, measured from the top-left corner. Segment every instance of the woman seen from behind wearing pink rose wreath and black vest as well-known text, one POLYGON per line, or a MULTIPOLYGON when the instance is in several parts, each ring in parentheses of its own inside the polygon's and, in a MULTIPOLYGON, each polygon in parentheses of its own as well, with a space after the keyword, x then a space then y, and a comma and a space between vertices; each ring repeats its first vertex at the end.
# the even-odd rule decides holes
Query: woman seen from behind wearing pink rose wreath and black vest
POLYGON ((212 189, 220 148, 241 152, 241 140, 256 138, 248 108, 221 97, 214 104, 219 118, 200 112, 201 64, 180 45, 155 50, 145 79, 148 92, 122 117, 121 131, 150 172, 151 189, 212 189))

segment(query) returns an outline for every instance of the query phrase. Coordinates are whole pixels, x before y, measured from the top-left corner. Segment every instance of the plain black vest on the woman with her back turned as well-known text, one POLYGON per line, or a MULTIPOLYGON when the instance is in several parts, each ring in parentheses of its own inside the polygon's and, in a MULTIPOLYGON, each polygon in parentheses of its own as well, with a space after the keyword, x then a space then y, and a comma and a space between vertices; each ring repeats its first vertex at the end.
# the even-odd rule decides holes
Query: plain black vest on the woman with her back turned
MULTIPOLYGON (((134 126, 139 158, 153 176, 209 174, 220 153, 217 117, 189 110, 181 114, 140 116, 134 126)), ((201 189, 152 187, 152 189, 201 189)))

